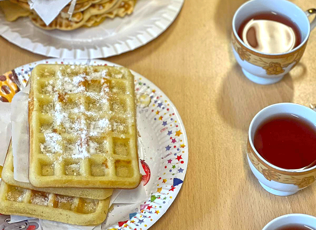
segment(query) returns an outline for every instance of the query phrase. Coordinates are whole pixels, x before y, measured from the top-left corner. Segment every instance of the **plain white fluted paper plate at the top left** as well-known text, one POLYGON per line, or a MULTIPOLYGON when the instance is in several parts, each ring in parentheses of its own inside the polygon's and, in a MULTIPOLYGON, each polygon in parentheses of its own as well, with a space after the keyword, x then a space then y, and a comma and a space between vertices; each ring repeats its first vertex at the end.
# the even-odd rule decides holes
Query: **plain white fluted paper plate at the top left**
POLYGON ((48 57, 106 58, 143 46, 174 21, 184 0, 138 0, 131 16, 108 19, 97 27, 46 31, 30 19, 7 22, 0 14, 0 35, 15 45, 48 57))

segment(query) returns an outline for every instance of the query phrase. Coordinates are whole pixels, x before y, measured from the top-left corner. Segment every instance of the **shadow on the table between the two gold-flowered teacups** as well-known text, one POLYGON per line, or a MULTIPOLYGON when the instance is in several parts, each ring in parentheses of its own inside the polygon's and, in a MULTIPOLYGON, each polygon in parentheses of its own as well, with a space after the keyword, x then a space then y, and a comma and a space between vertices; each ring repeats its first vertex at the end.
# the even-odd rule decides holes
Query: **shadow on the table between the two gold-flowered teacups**
MULTIPOLYGON (((304 76, 306 70, 299 71, 304 76)), ((295 67, 298 68, 298 67, 295 67)), ((295 71, 297 73, 297 71, 295 71)), ((259 85, 248 80, 236 63, 224 78, 216 99, 217 111, 223 120, 231 127, 248 130, 249 124, 264 107, 293 99, 293 81, 299 81, 300 76, 292 77, 286 74, 284 78, 272 85, 259 85)))

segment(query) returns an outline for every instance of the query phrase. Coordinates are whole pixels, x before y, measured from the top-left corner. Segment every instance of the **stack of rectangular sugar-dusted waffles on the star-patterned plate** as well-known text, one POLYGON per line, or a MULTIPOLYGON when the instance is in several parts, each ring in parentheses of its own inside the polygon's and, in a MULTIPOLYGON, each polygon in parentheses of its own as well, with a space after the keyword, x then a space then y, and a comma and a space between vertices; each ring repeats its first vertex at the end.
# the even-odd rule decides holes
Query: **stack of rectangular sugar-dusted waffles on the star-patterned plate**
POLYGON ((0 213, 102 223, 112 189, 141 180, 133 75, 123 67, 37 65, 28 110, 30 183, 14 179, 10 144, 0 213))

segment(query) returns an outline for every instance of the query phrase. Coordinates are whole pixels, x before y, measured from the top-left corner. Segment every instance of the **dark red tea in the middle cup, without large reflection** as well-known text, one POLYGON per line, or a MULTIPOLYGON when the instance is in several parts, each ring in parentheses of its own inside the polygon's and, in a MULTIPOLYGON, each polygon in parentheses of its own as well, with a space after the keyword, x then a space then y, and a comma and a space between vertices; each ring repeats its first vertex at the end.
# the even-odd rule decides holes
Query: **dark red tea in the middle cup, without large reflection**
POLYGON ((271 164, 301 169, 316 160, 316 126, 294 114, 278 114, 259 124, 253 144, 271 164))

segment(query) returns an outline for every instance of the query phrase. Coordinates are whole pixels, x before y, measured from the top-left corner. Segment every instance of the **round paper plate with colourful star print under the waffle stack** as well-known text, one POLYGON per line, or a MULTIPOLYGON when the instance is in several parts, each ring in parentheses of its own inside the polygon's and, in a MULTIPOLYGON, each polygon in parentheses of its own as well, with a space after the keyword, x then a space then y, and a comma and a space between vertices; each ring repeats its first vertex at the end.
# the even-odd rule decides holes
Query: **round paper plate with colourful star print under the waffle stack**
MULTIPOLYGON (((103 60, 45 59, 15 68, 0 76, 0 100, 11 102, 38 64, 116 65, 103 60)), ((102 229, 145 230, 170 207, 183 183, 188 163, 185 128, 169 98, 140 74, 135 76, 139 157, 146 175, 147 199, 135 204, 114 204, 102 229)))

